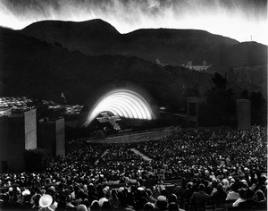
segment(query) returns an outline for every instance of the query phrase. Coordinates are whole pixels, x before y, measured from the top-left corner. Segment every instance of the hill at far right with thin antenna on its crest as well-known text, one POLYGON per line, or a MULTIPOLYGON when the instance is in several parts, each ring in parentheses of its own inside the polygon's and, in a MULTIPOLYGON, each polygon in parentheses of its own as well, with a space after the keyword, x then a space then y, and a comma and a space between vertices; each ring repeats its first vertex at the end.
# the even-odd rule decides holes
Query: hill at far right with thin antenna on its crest
MULTIPOLYGON (((228 48, 222 56, 222 65, 213 66, 207 72, 226 75, 230 88, 237 93, 243 90, 261 91, 267 96, 267 46, 256 42, 242 42, 228 48), (228 63, 229 66, 223 63, 228 63)), ((221 51, 219 55, 221 55, 221 51)), ((221 57, 221 56, 220 56, 221 57)))

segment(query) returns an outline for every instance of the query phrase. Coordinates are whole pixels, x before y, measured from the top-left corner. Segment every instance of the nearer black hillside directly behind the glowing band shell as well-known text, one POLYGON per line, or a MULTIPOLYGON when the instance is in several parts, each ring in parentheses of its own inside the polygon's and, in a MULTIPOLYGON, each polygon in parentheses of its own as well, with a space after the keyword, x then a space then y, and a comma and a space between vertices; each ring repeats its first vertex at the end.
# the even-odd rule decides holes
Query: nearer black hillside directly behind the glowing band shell
POLYGON ((83 103, 96 89, 114 80, 131 80, 149 91, 159 105, 178 108, 184 91, 205 91, 211 75, 147 62, 134 56, 83 55, 19 31, 0 28, 1 96, 41 96, 83 103), (183 89, 184 87, 184 89, 183 89))

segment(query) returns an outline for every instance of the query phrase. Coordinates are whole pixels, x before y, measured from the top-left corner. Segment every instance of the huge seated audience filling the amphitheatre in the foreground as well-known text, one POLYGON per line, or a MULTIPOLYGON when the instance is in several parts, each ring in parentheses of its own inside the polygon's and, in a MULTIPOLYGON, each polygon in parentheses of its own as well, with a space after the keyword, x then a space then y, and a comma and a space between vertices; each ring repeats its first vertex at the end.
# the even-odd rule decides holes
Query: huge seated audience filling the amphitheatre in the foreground
POLYGON ((266 136, 265 128, 254 126, 181 131, 135 144, 85 143, 42 173, 0 174, 0 204, 37 210, 205 210, 230 203, 265 209, 266 136), (176 183, 164 185, 171 182, 176 183))

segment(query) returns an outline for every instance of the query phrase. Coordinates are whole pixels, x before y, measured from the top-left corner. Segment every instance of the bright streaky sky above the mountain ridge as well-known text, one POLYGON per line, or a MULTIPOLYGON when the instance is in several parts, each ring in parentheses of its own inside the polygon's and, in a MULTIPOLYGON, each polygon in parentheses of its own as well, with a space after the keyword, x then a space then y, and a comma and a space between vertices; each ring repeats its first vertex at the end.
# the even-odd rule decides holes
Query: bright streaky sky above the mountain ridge
POLYGON ((207 30, 268 45, 267 0, 0 0, 0 26, 102 19, 121 33, 138 29, 207 30))

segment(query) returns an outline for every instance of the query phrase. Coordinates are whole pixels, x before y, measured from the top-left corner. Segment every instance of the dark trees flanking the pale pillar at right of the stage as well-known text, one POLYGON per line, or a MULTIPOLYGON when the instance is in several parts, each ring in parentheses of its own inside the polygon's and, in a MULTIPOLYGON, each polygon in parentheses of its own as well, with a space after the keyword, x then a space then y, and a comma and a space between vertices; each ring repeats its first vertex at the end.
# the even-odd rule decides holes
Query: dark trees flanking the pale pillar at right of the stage
POLYGON ((227 80, 221 74, 215 73, 214 87, 206 92, 207 103, 200 105, 200 124, 206 126, 230 125, 236 126, 236 99, 249 99, 251 101, 252 124, 267 125, 266 99, 258 91, 248 93, 244 90, 236 96, 232 89, 227 88, 227 80))

